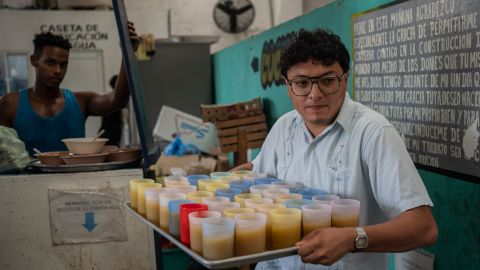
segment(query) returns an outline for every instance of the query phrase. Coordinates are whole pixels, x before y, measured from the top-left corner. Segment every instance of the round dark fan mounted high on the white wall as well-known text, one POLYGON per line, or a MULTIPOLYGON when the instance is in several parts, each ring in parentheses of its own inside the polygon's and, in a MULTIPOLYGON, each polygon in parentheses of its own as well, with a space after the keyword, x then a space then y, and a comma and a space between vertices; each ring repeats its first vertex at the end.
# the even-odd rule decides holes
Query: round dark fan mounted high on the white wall
POLYGON ((247 30, 255 18, 255 8, 250 0, 220 0, 213 10, 215 24, 228 33, 247 30))

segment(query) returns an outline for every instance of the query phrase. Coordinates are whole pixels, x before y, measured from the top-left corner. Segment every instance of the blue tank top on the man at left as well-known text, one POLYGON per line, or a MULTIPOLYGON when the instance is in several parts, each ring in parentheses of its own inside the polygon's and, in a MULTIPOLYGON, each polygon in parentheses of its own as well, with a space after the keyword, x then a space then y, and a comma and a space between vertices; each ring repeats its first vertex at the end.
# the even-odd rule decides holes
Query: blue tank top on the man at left
POLYGON ((41 152, 65 151, 67 147, 62 139, 85 137, 85 120, 77 98, 67 89, 63 90, 63 98, 62 110, 45 117, 32 109, 28 89, 19 92, 14 128, 30 155, 33 156, 34 147, 41 152))

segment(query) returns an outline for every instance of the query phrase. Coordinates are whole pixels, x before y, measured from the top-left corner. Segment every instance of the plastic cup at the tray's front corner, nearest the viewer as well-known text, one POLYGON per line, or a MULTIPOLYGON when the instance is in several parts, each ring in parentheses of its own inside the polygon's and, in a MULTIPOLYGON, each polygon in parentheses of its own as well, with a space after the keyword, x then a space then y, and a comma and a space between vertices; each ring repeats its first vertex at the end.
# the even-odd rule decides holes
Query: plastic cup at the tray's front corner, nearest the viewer
POLYGON ((208 218, 202 224, 203 257, 222 260, 233 257, 235 221, 231 218, 208 218))

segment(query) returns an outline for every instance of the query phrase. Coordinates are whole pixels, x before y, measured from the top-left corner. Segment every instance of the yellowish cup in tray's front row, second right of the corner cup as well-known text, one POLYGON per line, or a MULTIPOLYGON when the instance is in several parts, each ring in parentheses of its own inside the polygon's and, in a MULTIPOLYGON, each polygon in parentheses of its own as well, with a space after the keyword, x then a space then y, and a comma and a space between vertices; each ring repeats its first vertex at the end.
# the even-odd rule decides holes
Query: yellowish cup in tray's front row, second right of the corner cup
POLYGON ((296 208, 279 208, 270 212, 272 223, 272 248, 293 247, 300 240, 302 211, 296 208))

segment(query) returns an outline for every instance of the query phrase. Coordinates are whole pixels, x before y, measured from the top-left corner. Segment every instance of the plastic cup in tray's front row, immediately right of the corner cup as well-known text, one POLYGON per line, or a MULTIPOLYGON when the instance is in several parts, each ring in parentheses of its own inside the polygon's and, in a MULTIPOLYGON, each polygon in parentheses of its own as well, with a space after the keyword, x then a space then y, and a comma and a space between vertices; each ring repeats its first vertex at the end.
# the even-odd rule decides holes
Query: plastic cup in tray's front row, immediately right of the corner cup
POLYGON ((267 216, 262 213, 235 215, 235 255, 265 251, 267 216))

